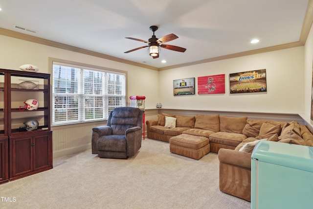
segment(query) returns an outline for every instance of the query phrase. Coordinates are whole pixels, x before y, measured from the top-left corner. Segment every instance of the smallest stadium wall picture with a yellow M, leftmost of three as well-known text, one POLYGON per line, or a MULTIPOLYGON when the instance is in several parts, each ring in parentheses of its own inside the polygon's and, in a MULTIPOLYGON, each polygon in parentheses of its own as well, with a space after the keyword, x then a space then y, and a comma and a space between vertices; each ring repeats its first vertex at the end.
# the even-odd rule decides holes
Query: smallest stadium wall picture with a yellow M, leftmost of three
POLYGON ((173 93, 174 96, 195 94, 195 78, 173 80, 173 93))

